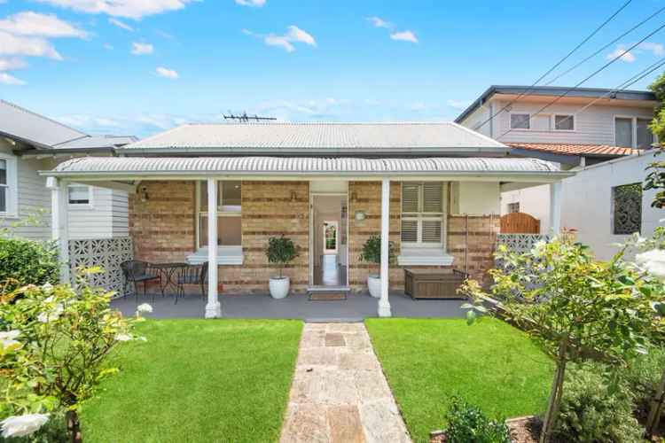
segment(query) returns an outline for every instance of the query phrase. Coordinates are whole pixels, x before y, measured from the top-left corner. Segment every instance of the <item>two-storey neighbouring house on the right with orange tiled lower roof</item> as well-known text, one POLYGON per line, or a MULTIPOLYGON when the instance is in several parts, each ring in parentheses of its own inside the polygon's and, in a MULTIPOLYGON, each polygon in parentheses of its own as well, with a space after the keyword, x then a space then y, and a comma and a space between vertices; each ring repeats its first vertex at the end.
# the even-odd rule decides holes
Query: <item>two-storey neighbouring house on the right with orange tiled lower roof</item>
MULTIPOLYGON (((456 121, 510 146, 512 156, 575 170, 563 181, 562 226, 606 260, 612 244, 636 231, 650 235, 661 218, 650 207, 653 195, 636 186, 653 161, 648 124, 658 102, 649 91, 568 89, 492 86, 456 121)), ((511 213, 530 214, 541 233, 552 231, 549 187, 502 192, 501 214, 511 213)))

